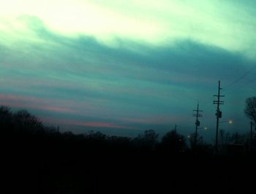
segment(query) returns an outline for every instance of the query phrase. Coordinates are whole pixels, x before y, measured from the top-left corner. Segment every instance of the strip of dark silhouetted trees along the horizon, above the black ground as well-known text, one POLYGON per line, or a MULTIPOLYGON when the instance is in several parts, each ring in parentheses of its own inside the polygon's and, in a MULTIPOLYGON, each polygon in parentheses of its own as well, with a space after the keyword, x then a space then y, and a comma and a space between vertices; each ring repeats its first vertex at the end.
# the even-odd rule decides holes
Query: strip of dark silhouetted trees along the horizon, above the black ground
MULTIPOLYGON (((256 97, 246 99, 244 112, 247 117, 256 121, 256 97)), ((0 126, 1 137, 4 139, 15 139, 21 141, 48 141, 52 144, 61 142, 65 144, 80 144, 84 149, 97 150, 147 150, 151 152, 204 152, 212 153, 213 146, 203 141, 202 136, 197 136, 195 145, 195 133, 191 133, 189 139, 178 133, 175 129, 167 131, 159 139, 159 134, 154 130, 146 130, 135 138, 127 136, 108 136, 99 131, 88 131, 83 134, 74 134, 71 131, 60 132, 59 127, 46 126, 38 117, 31 115, 26 110, 11 112, 10 107, 0 106, 0 126), (37 139, 37 140, 35 140, 37 139), (189 142, 188 142, 188 141, 189 142), (83 144, 83 146, 82 146, 83 144)), ((11 140, 10 140, 11 141, 11 140)), ((246 134, 227 133, 224 130, 219 131, 219 150, 228 152, 227 145, 240 144, 240 151, 249 151, 249 141, 255 147, 255 135, 252 139, 246 134)), ((236 149, 236 148, 235 148, 236 149)), ((236 150, 235 150, 236 151, 236 150)), ((250 149, 252 151, 252 149, 250 149)))

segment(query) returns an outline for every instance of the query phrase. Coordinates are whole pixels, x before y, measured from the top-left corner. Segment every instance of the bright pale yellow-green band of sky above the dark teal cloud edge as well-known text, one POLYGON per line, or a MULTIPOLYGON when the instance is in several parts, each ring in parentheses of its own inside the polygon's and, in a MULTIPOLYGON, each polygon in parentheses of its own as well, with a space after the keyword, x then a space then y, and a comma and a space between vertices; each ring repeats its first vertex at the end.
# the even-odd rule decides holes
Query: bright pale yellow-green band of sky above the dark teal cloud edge
POLYGON ((255 53, 256 14, 252 1, 10 0, 1 2, 0 11, 1 34, 6 33, 7 39, 22 40, 24 34, 29 34, 27 40, 39 41, 27 28, 39 29, 44 23, 56 34, 94 36, 114 47, 120 46, 118 39, 158 46, 190 39, 252 58, 255 53), (28 23, 22 15, 40 20, 29 19, 28 23))

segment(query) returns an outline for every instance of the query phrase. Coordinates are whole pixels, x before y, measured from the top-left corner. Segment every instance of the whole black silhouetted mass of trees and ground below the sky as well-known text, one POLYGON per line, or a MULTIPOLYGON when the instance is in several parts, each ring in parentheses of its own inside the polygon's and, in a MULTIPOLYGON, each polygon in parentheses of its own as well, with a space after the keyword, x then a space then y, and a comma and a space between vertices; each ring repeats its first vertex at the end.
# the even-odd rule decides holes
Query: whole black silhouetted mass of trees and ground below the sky
POLYGON ((7 106, 0 106, 0 130, 2 190, 8 193, 254 190, 253 179, 247 173, 254 173, 256 158, 244 151, 227 150, 228 144, 246 147, 247 136, 238 133, 220 131, 219 146, 225 154, 214 155, 214 147, 202 138, 197 138, 195 147, 195 133, 189 142, 174 129, 161 139, 154 130, 134 138, 99 131, 74 134, 45 126, 26 110, 12 112, 7 106), (216 179, 218 185, 212 185, 216 179))

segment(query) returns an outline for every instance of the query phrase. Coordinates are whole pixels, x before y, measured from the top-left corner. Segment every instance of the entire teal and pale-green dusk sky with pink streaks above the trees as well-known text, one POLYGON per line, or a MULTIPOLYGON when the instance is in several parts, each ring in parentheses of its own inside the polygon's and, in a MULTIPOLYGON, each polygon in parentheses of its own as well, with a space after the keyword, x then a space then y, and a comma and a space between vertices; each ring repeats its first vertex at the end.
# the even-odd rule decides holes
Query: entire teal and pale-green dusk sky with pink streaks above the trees
POLYGON ((63 131, 135 136, 195 132, 199 102, 213 140, 220 80, 220 128, 248 133, 255 31, 249 0, 0 1, 0 104, 63 131))

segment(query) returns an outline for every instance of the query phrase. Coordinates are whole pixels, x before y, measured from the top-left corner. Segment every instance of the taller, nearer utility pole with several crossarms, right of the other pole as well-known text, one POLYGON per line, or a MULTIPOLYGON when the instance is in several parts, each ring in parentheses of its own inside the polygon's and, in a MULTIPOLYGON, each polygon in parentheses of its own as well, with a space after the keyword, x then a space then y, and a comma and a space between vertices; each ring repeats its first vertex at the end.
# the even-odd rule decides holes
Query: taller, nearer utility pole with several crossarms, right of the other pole
POLYGON ((217 97, 217 101, 214 101, 214 104, 217 104, 217 112, 216 112, 216 117, 217 117, 217 123, 216 123, 216 140, 215 140, 215 151, 218 152, 218 131, 219 131, 219 118, 222 117, 222 112, 219 110, 219 105, 224 104, 224 101, 220 101, 221 97, 225 97, 220 95, 220 90, 222 90, 222 88, 220 88, 220 81, 219 81, 219 87, 218 87, 218 94, 214 95, 217 97))

